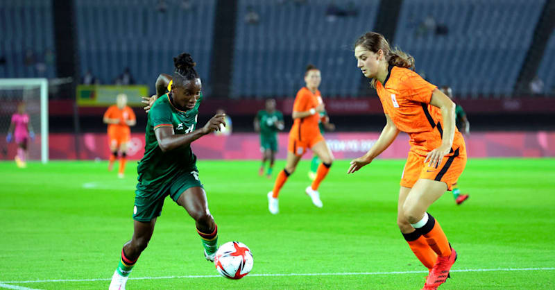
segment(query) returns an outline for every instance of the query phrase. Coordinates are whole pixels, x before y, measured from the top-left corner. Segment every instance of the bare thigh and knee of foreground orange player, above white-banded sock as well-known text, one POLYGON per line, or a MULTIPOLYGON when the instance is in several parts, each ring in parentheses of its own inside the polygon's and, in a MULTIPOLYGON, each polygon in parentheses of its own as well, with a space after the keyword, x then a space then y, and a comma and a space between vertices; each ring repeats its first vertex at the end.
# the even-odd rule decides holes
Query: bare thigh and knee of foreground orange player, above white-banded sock
POLYGON ((422 219, 428 207, 445 193, 445 190, 447 190, 445 182, 419 179, 403 203, 404 216, 409 219, 409 222, 416 223, 422 219))

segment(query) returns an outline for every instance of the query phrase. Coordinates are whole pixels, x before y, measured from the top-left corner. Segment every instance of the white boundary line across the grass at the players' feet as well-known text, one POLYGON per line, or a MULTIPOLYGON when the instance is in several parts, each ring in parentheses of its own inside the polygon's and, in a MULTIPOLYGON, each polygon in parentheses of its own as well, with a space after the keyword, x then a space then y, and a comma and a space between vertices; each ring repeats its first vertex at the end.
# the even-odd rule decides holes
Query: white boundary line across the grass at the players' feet
MULTIPOLYGON (((492 271, 552 271, 555 267, 548 268, 490 268, 490 269, 460 269, 451 272, 492 272, 492 271)), ((346 272, 346 273, 283 273, 283 274, 252 274, 249 277, 282 277, 282 276, 346 276, 346 275, 395 275, 395 274, 416 274, 428 273, 428 271, 395 271, 395 272, 346 272)), ((162 277, 130 277, 129 280, 156 280, 156 279, 175 279, 175 278, 217 278, 220 275, 185 275, 185 276, 162 276, 162 277)), ((2 283, 44 283, 44 282, 94 282, 110 281, 112 278, 97 279, 53 279, 53 280, 27 280, 27 281, 3 281, 2 283)), ((10 286, 10 285, 8 285, 10 286)), ((26 289, 26 288, 17 288, 26 289)))

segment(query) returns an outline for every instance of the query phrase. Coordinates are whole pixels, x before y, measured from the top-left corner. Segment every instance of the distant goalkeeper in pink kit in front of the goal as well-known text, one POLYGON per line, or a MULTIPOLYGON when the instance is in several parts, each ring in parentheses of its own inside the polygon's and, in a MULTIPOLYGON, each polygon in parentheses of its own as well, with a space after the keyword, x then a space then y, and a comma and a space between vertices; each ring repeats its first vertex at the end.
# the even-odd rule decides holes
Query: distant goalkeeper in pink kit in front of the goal
POLYGON ((15 155, 15 164, 19 168, 27 167, 27 149, 29 139, 35 139, 33 126, 31 126, 31 118, 25 110, 25 103, 17 105, 17 112, 12 114, 12 121, 6 135, 6 142, 12 142, 15 139, 17 144, 17 155, 15 155))

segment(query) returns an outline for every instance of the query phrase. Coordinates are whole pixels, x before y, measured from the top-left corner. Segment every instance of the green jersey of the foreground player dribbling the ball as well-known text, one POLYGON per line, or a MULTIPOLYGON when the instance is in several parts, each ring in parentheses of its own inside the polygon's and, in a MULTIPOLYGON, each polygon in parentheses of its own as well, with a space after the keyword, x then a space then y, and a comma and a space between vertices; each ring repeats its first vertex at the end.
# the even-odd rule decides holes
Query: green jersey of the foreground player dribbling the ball
POLYGON ((196 129, 198 106, 203 95, 200 94, 195 107, 187 112, 174 107, 170 99, 170 94, 160 96, 148 112, 144 136, 144 156, 137 166, 139 175, 137 189, 143 191, 160 187, 178 174, 196 169, 196 156, 190 146, 181 146, 162 152, 154 130, 158 127, 172 127, 176 135, 193 132, 196 129))

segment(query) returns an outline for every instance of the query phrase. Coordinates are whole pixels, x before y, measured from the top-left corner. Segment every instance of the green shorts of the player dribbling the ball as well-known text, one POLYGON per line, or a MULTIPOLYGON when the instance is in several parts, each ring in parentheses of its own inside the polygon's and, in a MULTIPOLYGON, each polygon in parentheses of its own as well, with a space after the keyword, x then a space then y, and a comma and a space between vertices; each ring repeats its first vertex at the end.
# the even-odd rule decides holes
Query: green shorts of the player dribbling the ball
POLYGON ((142 222, 152 221, 155 217, 162 214, 162 206, 164 206, 166 196, 171 196, 171 199, 177 203, 179 196, 185 190, 191 187, 203 187, 202 182, 198 178, 197 169, 184 171, 173 178, 171 182, 167 182, 159 188, 139 189, 139 185, 137 185, 137 190, 135 190, 133 219, 142 222))

